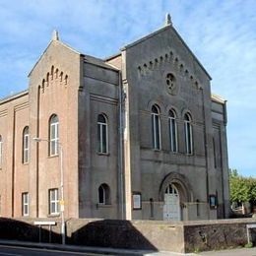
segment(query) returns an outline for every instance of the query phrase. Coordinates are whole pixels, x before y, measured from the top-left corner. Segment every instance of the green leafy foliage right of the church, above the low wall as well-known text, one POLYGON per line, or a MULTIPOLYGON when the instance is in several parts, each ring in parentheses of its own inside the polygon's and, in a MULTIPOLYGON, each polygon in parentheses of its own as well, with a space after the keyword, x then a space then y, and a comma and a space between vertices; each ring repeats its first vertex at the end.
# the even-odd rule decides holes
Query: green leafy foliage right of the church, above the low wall
POLYGON ((256 203, 256 178, 243 177, 236 169, 229 170, 231 202, 256 203))

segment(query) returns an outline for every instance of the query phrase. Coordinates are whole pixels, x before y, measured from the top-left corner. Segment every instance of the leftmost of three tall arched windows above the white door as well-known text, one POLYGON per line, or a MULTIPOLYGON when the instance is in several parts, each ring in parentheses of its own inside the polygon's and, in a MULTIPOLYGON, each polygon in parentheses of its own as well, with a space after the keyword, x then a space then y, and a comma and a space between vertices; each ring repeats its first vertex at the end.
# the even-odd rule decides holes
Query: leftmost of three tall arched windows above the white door
POLYGON ((155 150, 160 150, 160 108, 158 105, 152 106, 152 141, 153 148, 155 150))

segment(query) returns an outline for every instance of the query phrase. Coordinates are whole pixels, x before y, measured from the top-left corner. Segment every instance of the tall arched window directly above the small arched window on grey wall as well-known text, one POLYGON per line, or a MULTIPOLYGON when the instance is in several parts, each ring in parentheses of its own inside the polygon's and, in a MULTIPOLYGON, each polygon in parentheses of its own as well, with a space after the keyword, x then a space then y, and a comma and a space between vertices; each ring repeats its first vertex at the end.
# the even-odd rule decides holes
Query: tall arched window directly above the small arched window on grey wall
POLYGON ((97 116, 97 152, 108 153, 107 120, 103 114, 97 116))

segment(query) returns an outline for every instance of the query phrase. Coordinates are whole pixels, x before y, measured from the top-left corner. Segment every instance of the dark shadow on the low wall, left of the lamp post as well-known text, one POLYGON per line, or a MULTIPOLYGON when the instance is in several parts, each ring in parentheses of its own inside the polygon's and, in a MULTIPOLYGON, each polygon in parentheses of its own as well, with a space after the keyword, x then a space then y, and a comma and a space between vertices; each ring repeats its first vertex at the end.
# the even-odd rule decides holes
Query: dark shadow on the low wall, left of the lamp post
POLYGON ((47 227, 40 228, 30 224, 30 221, 27 223, 14 219, 0 218, 0 239, 61 243, 61 235, 54 229, 59 229, 59 227, 55 225, 53 230, 50 231, 47 230, 47 227))

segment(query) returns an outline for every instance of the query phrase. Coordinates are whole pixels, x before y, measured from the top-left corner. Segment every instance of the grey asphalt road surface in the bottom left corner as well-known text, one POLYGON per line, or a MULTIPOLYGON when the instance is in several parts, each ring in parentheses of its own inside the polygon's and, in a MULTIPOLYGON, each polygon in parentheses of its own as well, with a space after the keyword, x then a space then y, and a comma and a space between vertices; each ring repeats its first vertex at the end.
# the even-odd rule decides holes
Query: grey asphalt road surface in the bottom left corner
MULTIPOLYGON (((98 256, 105 254, 97 253, 85 253, 85 252, 71 252, 71 251, 61 251, 61 250, 48 250, 48 249, 37 249, 37 248, 27 248, 27 247, 18 247, 18 246, 7 246, 0 245, 0 256, 33 256, 33 255, 85 255, 85 256, 98 256)), ((109 255, 109 254, 108 254, 109 255)))

